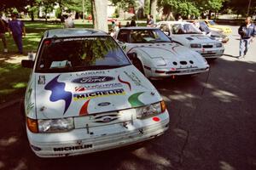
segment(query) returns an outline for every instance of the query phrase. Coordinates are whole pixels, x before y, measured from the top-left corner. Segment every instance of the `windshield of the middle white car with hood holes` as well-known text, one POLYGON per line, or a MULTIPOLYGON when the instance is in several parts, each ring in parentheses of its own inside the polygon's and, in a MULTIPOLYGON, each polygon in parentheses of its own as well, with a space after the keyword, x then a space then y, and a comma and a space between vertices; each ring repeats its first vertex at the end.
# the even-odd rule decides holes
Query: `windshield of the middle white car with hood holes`
POLYGON ((131 31, 131 43, 171 42, 166 34, 158 29, 131 31))

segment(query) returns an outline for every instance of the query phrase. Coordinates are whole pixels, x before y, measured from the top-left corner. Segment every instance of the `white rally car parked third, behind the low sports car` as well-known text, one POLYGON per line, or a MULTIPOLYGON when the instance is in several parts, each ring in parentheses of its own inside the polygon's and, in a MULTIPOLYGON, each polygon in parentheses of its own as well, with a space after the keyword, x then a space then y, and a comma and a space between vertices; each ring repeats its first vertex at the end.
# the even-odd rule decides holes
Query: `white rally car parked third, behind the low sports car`
POLYGON ((222 42, 213 37, 203 35, 192 23, 181 21, 160 21, 157 27, 166 35, 172 37, 173 41, 191 48, 205 58, 217 59, 224 54, 222 42))

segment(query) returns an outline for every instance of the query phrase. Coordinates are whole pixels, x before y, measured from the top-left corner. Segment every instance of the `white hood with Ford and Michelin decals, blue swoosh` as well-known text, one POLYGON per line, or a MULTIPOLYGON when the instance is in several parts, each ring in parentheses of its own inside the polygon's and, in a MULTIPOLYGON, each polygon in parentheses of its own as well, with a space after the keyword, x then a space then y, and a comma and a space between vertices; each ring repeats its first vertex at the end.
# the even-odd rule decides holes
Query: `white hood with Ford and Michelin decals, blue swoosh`
POLYGON ((38 119, 125 110, 161 100, 143 74, 128 65, 112 70, 36 73, 38 119))

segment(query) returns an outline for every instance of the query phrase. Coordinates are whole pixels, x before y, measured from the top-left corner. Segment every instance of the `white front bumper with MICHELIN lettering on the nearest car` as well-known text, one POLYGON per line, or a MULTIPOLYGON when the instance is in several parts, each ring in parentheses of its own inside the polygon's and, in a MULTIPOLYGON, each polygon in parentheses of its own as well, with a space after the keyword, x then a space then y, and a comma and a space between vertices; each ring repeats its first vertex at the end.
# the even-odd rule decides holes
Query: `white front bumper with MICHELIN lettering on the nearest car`
POLYGON ((27 129, 27 136, 39 157, 75 156, 153 139, 164 133, 168 124, 169 114, 165 111, 143 120, 79 128, 67 133, 31 133, 27 129))

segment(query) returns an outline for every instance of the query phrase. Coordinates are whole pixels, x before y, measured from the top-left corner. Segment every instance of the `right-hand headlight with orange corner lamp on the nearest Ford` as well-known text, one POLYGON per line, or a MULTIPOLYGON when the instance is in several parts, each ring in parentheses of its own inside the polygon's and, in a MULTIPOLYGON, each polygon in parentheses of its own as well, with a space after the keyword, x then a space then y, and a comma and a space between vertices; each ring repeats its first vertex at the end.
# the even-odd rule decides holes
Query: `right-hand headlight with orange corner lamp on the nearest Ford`
POLYGON ((152 105, 145 105, 136 109, 137 118, 139 119, 143 119, 148 116, 158 115, 164 111, 166 111, 166 104, 164 101, 152 105))

